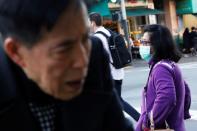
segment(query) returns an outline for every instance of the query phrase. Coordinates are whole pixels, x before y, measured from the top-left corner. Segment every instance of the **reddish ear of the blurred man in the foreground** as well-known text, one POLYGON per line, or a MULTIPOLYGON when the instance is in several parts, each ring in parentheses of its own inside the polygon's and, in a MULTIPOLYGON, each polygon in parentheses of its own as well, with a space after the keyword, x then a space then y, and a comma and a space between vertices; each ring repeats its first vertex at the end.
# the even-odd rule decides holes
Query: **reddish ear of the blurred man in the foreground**
POLYGON ((4 41, 4 50, 9 58, 14 61, 20 67, 25 67, 25 63, 23 62, 23 57, 20 52, 22 45, 15 38, 8 37, 4 41))

